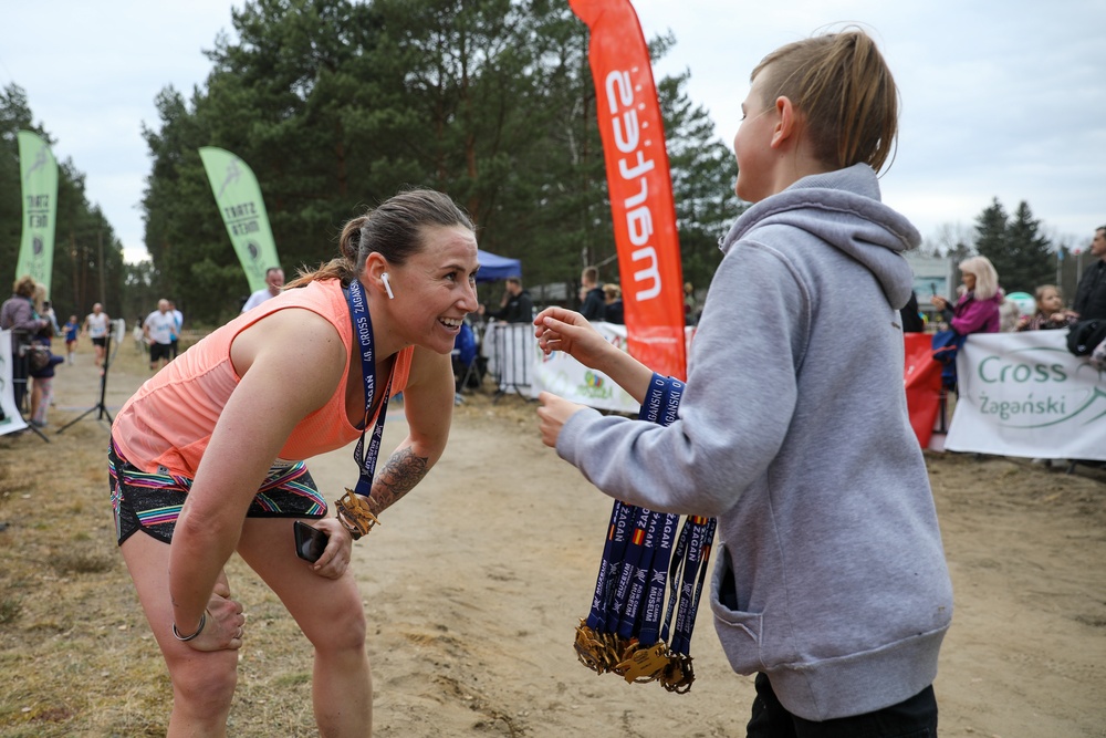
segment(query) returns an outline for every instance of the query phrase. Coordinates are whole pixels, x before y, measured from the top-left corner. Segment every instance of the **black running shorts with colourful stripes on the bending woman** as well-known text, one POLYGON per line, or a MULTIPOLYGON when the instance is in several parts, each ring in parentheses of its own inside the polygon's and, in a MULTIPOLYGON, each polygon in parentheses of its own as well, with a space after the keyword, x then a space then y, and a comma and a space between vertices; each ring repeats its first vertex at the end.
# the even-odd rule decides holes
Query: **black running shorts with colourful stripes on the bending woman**
MULTIPOLYGON (((115 441, 107 449, 107 470, 119 545, 136 531, 169 543, 192 480, 169 474, 142 471, 123 458, 115 441)), ((247 518, 323 518, 326 500, 319 493, 303 461, 278 461, 250 503, 247 518)))

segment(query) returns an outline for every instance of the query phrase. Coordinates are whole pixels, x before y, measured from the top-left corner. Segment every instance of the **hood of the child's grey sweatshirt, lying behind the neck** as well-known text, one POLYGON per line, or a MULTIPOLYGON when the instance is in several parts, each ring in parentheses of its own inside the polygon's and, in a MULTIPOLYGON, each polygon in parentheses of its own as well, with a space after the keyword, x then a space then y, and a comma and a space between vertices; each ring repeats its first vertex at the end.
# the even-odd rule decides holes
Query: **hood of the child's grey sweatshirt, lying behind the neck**
POLYGON ((879 180, 867 164, 803 177, 753 205, 719 241, 722 252, 768 225, 801 228, 847 253, 875 274, 896 310, 910 299, 914 271, 902 253, 917 248, 921 237, 879 201, 879 180))

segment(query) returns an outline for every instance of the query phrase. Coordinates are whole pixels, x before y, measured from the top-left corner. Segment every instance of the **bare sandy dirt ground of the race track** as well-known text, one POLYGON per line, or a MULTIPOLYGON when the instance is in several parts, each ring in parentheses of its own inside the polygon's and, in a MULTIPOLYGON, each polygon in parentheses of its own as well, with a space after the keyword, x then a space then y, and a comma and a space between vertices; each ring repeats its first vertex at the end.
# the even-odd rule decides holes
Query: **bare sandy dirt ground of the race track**
MULTIPOLYGON (((54 458, 76 446, 103 448, 107 438, 98 413, 56 434, 98 398, 91 355, 77 358, 76 366, 59 367, 46 430, 54 458)), ((137 362, 121 364, 108 381, 112 413, 147 376, 137 362)), ((355 545, 369 619, 374 735, 743 736, 752 682, 726 664, 706 602, 688 694, 596 676, 577 663, 573 628, 591 602, 611 500, 541 445, 534 407, 517 396, 497 401, 491 387, 467 394, 438 466, 355 545)), ((405 432, 401 406, 393 406, 385 450, 405 432)), ((30 434, 0 439, 0 462, 32 445, 41 441, 30 434)), ((956 590, 936 683, 941 735, 1106 736, 1106 475, 961 454, 927 453, 927 462, 956 590)), ((356 474, 352 449, 309 466, 332 501, 356 474)), ((106 517, 106 492, 103 505, 106 517)), ((12 508, 0 508, 0 520, 11 514, 12 508)), ((106 524, 101 530, 111 534, 106 524)), ((122 567, 114 575, 126 582, 122 567)), ((248 576, 232 572, 231 583, 248 576)), ((257 588, 243 591, 262 599, 257 588)), ((145 633, 137 605, 129 619, 145 633)), ((231 734, 310 735, 306 700, 294 706, 292 727, 259 727, 263 721, 244 717, 262 709, 257 703, 265 700, 251 697, 251 682, 263 682, 271 668, 262 623, 252 630, 234 708, 242 717, 231 734)), ((156 669, 156 648, 144 637, 156 669)), ((307 669, 310 654, 300 658, 299 668, 307 669)), ((39 663, 56 669, 63 689, 64 659, 39 663)), ((159 688, 167 715, 164 677, 159 688)), ((265 695, 270 706, 280 694, 265 695)), ((299 695, 306 692, 285 698, 299 695)), ((154 725, 164 725, 165 715, 154 725)), ((12 728, 0 735, 35 734, 12 728)))

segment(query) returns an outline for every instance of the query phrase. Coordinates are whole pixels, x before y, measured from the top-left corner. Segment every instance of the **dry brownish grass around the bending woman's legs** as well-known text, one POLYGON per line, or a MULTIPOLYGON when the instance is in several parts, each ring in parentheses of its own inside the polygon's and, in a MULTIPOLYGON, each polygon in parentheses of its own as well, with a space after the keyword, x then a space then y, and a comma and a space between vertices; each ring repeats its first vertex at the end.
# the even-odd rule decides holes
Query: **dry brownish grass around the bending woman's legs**
MULTIPOLYGON (((111 372, 109 391, 149 376, 129 343, 111 372)), ((56 433, 80 412, 51 412, 49 444, 0 436, 0 738, 168 729, 168 671, 115 543, 108 426, 88 417, 56 433)), ((227 571, 236 599, 268 622, 241 652, 230 735, 314 735, 310 644, 244 563, 227 571)))

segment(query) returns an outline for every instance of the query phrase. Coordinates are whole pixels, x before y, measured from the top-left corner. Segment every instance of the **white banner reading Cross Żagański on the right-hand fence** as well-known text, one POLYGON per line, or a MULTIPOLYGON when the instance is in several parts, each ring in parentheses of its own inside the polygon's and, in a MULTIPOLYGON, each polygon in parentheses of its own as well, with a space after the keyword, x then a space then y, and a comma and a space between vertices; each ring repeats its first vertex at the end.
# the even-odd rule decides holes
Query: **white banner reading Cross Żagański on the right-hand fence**
POLYGON ((1067 331, 968 336, 945 448, 1106 461, 1106 373, 1067 351, 1067 331))

